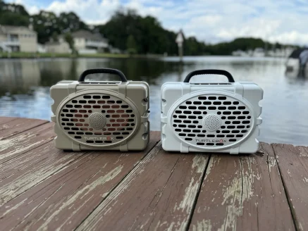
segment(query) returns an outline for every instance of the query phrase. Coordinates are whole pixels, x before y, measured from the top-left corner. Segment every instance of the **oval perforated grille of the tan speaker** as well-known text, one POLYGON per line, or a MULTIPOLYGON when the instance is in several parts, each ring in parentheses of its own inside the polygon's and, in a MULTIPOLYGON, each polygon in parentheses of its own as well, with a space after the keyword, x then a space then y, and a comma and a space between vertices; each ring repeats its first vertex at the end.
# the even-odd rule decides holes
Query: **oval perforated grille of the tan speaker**
POLYGON ((136 127, 135 111, 126 101, 106 94, 85 94, 61 108, 61 127, 83 144, 111 145, 128 138, 136 127))

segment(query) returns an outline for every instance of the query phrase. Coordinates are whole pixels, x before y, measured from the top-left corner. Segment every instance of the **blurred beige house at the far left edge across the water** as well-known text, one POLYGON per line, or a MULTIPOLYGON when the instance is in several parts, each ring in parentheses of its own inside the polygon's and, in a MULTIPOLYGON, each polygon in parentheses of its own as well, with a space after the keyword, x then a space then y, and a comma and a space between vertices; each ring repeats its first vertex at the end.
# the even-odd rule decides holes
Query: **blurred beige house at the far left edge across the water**
POLYGON ((36 52, 37 32, 28 27, 0 25, 0 50, 36 52))

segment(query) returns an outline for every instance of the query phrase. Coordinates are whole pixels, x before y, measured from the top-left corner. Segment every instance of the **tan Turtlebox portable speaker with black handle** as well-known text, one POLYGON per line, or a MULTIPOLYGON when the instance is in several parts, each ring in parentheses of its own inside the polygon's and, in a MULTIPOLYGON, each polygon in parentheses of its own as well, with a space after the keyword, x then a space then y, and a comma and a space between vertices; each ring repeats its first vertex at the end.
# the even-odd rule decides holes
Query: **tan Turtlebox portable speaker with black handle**
POLYGON ((51 120, 56 148, 64 150, 143 150, 149 142, 149 85, 126 80, 114 69, 90 69, 79 81, 51 87, 51 120), (94 73, 118 75, 120 81, 90 81, 94 73))

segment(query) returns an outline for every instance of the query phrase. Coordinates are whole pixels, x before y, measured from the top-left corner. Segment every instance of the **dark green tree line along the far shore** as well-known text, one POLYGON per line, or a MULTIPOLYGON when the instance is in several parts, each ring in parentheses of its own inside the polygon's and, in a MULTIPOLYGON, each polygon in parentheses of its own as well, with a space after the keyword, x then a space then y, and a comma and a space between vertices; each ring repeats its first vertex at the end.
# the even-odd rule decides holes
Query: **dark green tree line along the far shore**
MULTIPOLYGON (((130 54, 168 54, 177 55, 178 45, 175 43, 177 33, 166 30, 159 20, 152 16, 142 17, 136 11, 120 9, 104 25, 91 27, 84 23, 73 12, 60 13, 39 11, 35 15, 27 13, 19 4, 6 4, 0 0, 0 25, 32 25, 37 32, 39 43, 46 43, 51 38, 56 40, 58 35, 66 35, 77 30, 99 32, 109 39, 111 46, 128 51, 130 54)), ((185 56, 197 55, 230 55, 233 51, 247 51, 257 47, 281 48, 282 44, 270 44, 262 39, 238 38, 231 42, 206 44, 196 37, 185 37, 185 56)))

